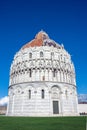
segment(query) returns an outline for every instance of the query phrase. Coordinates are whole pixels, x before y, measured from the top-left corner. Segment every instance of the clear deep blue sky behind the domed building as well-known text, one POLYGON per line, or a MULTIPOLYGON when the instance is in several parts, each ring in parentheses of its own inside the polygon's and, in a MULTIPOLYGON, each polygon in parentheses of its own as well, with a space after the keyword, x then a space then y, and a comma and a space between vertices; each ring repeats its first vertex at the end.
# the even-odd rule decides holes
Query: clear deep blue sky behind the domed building
POLYGON ((86 0, 0 1, 0 98, 8 94, 14 54, 41 29, 63 43, 76 69, 78 94, 87 93, 86 0))

